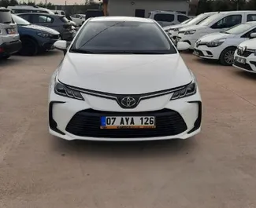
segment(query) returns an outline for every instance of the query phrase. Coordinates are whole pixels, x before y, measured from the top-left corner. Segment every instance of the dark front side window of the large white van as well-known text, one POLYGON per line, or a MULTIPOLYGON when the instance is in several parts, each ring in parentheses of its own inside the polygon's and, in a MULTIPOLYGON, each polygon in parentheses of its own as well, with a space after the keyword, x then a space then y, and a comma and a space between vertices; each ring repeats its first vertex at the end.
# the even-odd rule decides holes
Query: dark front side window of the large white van
POLYGON ((233 27, 236 24, 240 24, 242 22, 242 15, 230 15, 225 16, 222 20, 219 20, 216 24, 213 24, 213 29, 222 29, 233 27))

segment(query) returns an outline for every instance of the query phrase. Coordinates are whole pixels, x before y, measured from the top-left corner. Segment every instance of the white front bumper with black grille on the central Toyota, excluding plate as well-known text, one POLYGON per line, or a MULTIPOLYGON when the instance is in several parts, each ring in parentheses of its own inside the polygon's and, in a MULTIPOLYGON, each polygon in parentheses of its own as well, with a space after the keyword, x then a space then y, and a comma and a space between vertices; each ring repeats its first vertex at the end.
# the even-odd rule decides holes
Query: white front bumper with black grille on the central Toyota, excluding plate
MULTIPOLYGON (((198 91, 197 91, 198 92, 198 91)), ((61 97, 50 88, 49 131, 65 140, 169 140, 187 139, 201 131, 199 92, 169 101, 172 94, 142 100, 135 110, 119 107, 116 100, 82 94, 84 100, 61 97), (155 116, 155 130, 101 130, 100 116, 155 116)))

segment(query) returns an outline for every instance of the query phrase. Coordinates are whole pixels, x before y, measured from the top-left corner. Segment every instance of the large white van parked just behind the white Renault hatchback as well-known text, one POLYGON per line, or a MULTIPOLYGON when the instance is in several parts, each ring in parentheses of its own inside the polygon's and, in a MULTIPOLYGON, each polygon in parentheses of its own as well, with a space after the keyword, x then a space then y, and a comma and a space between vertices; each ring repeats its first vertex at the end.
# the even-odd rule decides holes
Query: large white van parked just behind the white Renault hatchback
POLYGON ((198 25, 192 25, 191 27, 185 27, 180 29, 177 42, 188 42, 194 49, 195 42, 198 38, 210 33, 220 32, 227 30, 236 24, 246 23, 247 21, 256 20, 256 11, 231 11, 221 12, 214 14, 203 20, 198 25))

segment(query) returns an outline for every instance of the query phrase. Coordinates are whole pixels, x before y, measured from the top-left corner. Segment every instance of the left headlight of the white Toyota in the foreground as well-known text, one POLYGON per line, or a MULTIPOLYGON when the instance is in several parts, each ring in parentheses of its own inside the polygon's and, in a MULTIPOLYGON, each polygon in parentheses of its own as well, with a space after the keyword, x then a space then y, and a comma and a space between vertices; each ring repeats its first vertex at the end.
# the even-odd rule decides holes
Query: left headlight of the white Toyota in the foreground
POLYGON ((80 92, 74 89, 70 89, 61 82, 58 82, 57 78, 55 78, 54 92, 60 96, 70 97, 77 100, 83 100, 83 97, 80 94, 80 92))

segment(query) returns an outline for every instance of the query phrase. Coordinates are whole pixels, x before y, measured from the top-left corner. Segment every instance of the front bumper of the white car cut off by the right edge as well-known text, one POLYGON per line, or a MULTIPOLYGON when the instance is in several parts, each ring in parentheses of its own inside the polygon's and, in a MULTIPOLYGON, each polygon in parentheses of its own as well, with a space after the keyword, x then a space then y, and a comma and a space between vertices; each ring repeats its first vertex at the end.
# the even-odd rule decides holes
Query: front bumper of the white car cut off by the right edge
POLYGON ((247 53, 244 53, 244 56, 238 55, 237 50, 236 50, 236 52, 234 54, 235 61, 234 61, 233 66, 235 68, 239 68, 243 71, 247 71, 250 73, 256 73, 256 56, 254 55, 254 53, 250 53, 250 55, 247 57, 246 54, 247 53), (246 60, 245 64, 241 64, 238 61, 236 61, 236 57, 245 59, 246 60))

